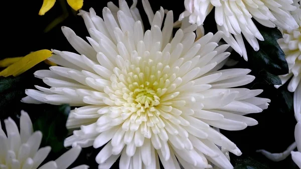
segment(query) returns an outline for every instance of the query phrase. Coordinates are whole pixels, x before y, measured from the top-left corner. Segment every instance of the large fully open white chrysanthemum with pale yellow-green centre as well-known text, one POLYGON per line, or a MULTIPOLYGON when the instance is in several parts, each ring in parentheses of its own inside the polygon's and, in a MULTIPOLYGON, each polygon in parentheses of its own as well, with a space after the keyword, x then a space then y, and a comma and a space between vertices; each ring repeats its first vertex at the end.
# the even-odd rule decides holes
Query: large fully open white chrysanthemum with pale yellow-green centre
POLYGON ((197 26, 172 38, 173 12, 153 13, 142 1, 152 25, 145 33, 136 9, 108 3, 103 19, 81 11, 91 46, 67 27, 62 31, 80 54, 54 50, 50 60, 64 67, 39 70, 35 76, 50 86, 28 89, 27 103, 68 103, 68 128, 80 127, 65 146, 104 145, 96 156, 99 168, 233 168, 219 149, 236 155, 237 146, 211 126, 242 130, 257 121, 243 115, 266 109, 262 90, 232 88, 254 80, 248 69, 220 70, 230 55, 218 47, 222 32, 195 42, 197 26), (163 20, 165 18, 164 27, 163 20), (218 145, 218 146, 217 146, 218 145))

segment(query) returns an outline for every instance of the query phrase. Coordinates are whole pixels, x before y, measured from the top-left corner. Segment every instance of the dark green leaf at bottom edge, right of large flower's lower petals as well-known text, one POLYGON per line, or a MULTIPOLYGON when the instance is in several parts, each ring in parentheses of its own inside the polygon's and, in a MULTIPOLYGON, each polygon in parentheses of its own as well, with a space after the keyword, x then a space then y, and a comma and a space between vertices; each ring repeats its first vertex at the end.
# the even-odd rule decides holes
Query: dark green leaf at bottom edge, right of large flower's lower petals
POLYGON ((269 169, 266 164, 262 164, 259 161, 251 157, 238 158, 234 169, 269 169))

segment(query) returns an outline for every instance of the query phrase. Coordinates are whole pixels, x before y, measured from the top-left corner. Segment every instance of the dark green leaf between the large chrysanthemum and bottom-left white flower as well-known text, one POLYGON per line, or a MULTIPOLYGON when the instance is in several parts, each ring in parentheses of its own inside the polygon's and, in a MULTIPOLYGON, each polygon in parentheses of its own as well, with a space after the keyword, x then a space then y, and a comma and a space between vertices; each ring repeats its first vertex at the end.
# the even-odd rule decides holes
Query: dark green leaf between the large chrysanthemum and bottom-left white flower
POLYGON ((34 130, 43 133, 42 145, 50 145, 53 152, 64 148, 64 139, 68 134, 66 121, 70 112, 70 106, 63 104, 51 106, 34 122, 34 130))

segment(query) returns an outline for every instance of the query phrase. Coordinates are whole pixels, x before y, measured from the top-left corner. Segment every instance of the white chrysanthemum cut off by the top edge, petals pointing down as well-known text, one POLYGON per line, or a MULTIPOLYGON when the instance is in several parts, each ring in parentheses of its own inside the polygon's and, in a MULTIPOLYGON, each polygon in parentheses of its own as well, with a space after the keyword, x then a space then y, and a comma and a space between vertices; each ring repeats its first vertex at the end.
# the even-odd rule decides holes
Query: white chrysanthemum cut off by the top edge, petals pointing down
POLYGON ((264 40, 252 18, 269 28, 278 26, 285 30, 296 29, 298 25, 289 14, 289 11, 296 9, 292 3, 292 0, 185 0, 186 11, 180 15, 179 20, 188 17, 191 24, 203 25, 215 7, 215 21, 218 30, 225 34, 223 39, 247 60, 241 34, 255 51, 259 50, 257 39, 264 40))

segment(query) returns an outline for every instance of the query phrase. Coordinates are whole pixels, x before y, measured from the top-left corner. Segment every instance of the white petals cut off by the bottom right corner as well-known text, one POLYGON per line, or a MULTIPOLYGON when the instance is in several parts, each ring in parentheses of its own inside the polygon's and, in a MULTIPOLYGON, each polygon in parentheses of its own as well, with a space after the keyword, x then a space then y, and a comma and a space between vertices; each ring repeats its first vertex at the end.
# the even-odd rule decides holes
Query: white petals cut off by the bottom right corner
POLYGON ((301 168, 301 121, 297 122, 294 134, 298 151, 291 151, 291 158, 301 168))

